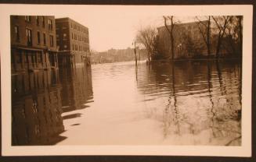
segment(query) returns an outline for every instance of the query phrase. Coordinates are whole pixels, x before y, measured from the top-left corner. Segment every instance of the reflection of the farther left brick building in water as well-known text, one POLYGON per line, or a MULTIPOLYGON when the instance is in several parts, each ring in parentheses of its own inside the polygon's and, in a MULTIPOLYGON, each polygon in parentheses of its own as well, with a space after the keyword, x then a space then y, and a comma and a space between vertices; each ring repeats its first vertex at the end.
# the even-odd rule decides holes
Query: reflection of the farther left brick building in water
MULTIPOLYGON (((61 96, 63 112, 75 111, 88 107, 92 102, 92 71, 89 66, 72 69, 59 69, 59 79, 62 84, 61 96)), ((79 116, 69 115, 63 118, 79 116)))

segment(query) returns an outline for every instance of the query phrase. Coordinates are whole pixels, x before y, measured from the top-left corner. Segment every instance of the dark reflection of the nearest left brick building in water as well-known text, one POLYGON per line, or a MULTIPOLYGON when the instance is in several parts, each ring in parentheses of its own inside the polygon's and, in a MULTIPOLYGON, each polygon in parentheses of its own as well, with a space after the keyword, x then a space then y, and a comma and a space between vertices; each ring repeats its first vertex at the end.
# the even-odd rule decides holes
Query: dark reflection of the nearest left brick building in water
POLYGON ((58 72, 12 76, 12 144, 50 145, 65 139, 58 72))

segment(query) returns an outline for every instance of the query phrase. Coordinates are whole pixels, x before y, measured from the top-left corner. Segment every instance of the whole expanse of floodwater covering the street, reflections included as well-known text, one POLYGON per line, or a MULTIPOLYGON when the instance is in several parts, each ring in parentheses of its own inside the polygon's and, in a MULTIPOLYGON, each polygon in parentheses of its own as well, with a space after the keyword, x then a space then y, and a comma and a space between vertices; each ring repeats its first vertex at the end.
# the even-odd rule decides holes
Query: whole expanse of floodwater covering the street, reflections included
POLYGON ((118 62, 12 76, 13 145, 241 145, 241 63, 118 62))

